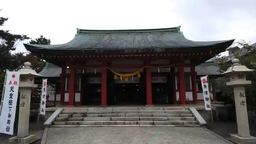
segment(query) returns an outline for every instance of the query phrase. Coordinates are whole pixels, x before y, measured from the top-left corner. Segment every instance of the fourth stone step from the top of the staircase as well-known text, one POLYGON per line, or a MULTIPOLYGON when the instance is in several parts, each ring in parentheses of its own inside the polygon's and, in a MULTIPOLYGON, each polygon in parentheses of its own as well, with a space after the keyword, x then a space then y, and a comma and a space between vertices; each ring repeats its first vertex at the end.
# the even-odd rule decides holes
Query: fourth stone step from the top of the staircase
POLYGON ((56 121, 191 121, 195 117, 58 117, 56 121))

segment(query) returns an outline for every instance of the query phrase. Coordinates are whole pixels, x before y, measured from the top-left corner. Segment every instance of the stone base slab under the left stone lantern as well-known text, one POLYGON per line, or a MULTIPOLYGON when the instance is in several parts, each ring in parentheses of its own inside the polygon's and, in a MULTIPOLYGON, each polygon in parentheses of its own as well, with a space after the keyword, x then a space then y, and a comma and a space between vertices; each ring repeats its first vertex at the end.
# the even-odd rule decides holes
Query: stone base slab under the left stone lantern
POLYGON ((37 141, 38 138, 35 135, 29 135, 27 137, 12 137, 9 139, 9 143, 16 143, 16 144, 30 144, 37 141))

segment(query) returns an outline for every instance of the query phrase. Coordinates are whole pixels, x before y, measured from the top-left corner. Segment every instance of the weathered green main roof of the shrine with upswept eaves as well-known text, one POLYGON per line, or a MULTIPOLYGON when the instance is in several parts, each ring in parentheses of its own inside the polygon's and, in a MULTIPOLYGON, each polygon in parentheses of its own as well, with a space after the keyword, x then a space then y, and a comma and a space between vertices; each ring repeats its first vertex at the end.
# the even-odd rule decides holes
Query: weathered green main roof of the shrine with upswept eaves
POLYGON ((184 37, 179 27, 144 30, 83 30, 70 42, 60 45, 25 44, 29 51, 34 49, 56 50, 122 50, 122 49, 165 49, 191 48, 210 45, 229 47, 232 40, 195 42, 184 37))

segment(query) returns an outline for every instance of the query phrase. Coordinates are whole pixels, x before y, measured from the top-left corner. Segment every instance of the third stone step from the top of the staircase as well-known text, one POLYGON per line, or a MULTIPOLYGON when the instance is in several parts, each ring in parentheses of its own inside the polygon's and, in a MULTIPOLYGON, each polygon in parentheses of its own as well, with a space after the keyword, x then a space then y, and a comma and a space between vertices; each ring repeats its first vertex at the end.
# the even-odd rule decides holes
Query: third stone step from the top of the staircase
POLYGON ((192 117, 192 113, 60 114, 59 117, 192 117))

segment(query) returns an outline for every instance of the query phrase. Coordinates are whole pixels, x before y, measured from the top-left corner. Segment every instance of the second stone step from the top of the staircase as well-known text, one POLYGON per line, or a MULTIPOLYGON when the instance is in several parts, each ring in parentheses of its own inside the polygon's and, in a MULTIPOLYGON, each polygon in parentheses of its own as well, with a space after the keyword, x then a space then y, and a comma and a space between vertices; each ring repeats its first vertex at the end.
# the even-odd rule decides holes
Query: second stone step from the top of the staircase
POLYGON ((95 110, 62 111, 61 114, 190 113, 190 110, 95 110))

